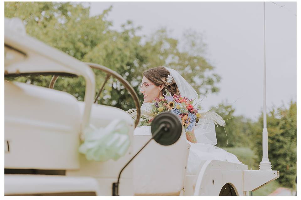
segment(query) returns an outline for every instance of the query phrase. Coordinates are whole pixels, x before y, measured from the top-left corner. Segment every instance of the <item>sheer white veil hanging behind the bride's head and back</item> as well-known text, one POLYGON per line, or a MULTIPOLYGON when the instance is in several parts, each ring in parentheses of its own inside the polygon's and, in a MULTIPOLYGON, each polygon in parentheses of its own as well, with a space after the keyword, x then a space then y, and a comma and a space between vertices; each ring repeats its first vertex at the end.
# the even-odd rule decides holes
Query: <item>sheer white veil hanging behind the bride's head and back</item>
MULTIPOLYGON (((193 89, 193 87, 187 83, 187 81, 176 70, 171 68, 166 69, 175 80, 181 96, 193 99, 193 106, 197 107, 197 105, 201 102, 201 99, 198 98, 198 93, 195 89, 193 89)), ((211 145, 217 144, 215 125, 212 120, 200 119, 198 125, 194 128, 194 134, 197 139, 197 143, 207 143, 211 145)))

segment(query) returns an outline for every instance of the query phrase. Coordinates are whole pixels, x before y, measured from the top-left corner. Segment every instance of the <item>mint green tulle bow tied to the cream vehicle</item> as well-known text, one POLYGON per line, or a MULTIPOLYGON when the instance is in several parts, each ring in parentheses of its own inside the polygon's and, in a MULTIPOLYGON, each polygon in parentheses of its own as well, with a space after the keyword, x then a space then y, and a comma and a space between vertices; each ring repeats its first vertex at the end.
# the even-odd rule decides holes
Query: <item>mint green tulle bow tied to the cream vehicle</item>
POLYGON ((87 160, 117 160, 127 152, 130 139, 129 128, 123 120, 114 120, 106 128, 90 126, 85 131, 85 140, 79 152, 86 155, 87 160))

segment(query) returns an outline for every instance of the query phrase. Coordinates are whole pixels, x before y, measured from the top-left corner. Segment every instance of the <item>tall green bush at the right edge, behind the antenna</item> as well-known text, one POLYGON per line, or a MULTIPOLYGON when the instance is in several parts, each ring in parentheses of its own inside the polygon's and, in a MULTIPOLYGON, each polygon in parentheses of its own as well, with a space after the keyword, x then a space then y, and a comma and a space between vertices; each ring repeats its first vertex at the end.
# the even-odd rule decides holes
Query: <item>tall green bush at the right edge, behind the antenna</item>
MULTIPOLYGON (((263 114, 253 126, 253 149, 262 158, 263 114)), ((280 172, 277 181, 284 187, 294 187, 297 169, 297 103, 289 108, 273 108, 267 114, 268 151, 272 169, 280 172)))

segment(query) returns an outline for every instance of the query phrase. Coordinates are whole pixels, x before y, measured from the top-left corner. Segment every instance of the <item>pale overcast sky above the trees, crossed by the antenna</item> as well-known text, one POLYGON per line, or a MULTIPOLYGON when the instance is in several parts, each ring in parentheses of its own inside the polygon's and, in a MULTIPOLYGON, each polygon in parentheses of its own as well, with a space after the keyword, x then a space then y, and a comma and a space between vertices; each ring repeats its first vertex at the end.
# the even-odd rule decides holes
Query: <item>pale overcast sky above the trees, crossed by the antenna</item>
MULTIPOLYGON (((296 101, 296 2, 265 3, 267 110, 296 101), (282 6, 282 7, 281 7, 282 6), (284 6, 284 7, 283 7, 284 6), (279 8, 281 7, 281 8, 279 8)), ((87 4, 87 3, 85 3, 87 4)), ((166 27, 181 43, 188 29, 206 43, 204 57, 222 80, 219 93, 202 101, 204 111, 222 101, 235 115, 256 120, 263 108, 263 2, 90 2, 90 15, 113 6, 113 29, 127 20, 137 35, 166 27)))

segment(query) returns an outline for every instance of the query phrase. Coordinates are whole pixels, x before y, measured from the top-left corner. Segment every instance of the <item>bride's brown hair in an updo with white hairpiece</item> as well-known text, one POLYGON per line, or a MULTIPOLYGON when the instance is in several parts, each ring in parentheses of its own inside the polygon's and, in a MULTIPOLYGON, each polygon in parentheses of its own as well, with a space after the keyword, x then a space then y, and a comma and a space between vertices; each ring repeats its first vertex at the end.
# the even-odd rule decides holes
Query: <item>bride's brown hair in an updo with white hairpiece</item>
POLYGON ((167 82, 167 76, 170 75, 170 72, 164 68, 164 67, 156 67, 156 68, 150 68, 143 72, 143 75, 150 80, 152 83, 154 83, 156 86, 159 86, 163 84, 164 88, 162 89, 162 93, 166 95, 165 88, 168 92, 170 92, 172 95, 176 94, 179 95, 179 89, 177 87, 177 84, 174 79, 172 79, 172 83, 167 82))

